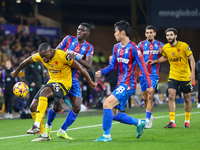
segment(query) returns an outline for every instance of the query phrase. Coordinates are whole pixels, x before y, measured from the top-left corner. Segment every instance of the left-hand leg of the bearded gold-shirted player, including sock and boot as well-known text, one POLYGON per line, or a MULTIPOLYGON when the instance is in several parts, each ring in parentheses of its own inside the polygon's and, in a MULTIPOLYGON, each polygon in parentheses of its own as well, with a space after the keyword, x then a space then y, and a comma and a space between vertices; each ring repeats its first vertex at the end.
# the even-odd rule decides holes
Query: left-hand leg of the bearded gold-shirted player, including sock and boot
POLYGON ((175 98, 176 98, 176 90, 175 89, 168 89, 169 93, 169 101, 168 101, 168 107, 169 107, 169 117, 170 117, 170 122, 165 125, 165 128, 175 128, 175 110, 176 110, 176 103, 175 103, 175 98))

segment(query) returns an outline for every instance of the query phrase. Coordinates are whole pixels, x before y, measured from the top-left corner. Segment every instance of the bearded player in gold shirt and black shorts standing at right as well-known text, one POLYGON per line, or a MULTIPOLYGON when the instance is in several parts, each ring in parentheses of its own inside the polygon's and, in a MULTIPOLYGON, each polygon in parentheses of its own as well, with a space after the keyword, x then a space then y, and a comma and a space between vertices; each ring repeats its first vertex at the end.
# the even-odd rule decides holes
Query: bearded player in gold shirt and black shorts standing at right
POLYGON ((175 96, 178 87, 183 92, 185 100, 185 123, 184 127, 190 127, 191 115, 191 95, 195 83, 195 60, 189 45, 185 42, 177 41, 178 32, 174 28, 165 31, 168 43, 163 46, 162 57, 157 60, 149 60, 147 63, 160 63, 166 60, 170 64, 168 93, 169 93, 169 117, 170 122, 165 128, 175 128, 175 96), (190 66, 188 63, 190 61, 190 66), (191 67, 191 70, 190 70, 191 67))

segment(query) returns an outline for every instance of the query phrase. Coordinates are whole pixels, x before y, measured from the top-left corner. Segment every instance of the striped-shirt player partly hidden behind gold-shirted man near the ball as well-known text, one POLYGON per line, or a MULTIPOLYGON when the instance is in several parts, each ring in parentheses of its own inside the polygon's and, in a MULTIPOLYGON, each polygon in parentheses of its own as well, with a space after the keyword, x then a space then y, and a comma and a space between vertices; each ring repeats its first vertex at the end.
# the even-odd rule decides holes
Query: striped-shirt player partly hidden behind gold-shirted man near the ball
MULTIPOLYGON (((88 23, 81 23, 77 29, 77 36, 66 36, 59 44, 57 49, 62 49, 65 52, 71 54, 81 65, 89 69, 92 66, 93 59, 93 46, 86 41, 87 36, 90 34, 90 25, 88 23)), ((77 78, 77 69, 72 68, 72 87, 68 93, 72 109, 69 111, 65 122, 57 132, 57 136, 64 139, 72 139, 65 133, 67 128, 75 121, 80 109, 81 109, 81 89, 77 78)), ((49 110, 46 131, 51 138, 51 126, 54 118, 56 117, 56 111, 53 108, 49 110)))

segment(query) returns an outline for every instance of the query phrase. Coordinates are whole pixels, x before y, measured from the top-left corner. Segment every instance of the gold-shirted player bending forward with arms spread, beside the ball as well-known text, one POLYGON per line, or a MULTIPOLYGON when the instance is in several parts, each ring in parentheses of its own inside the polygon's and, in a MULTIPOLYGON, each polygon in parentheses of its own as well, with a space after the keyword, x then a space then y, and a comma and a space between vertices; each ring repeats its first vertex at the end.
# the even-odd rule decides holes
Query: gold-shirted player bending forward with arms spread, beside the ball
POLYGON ((42 62, 45 65, 48 69, 50 80, 34 97, 34 99, 39 100, 36 114, 32 114, 32 118, 35 122, 27 133, 37 134, 41 132, 42 134, 39 140, 36 139, 33 141, 41 141, 41 139, 47 141, 50 139, 44 130, 42 117, 46 111, 48 101, 53 100, 56 106, 59 106, 59 100, 69 92, 72 85, 71 67, 78 69, 81 74, 83 74, 91 88, 95 88, 96 83, 91 80, 89 74, 82 65, 76 60, 70 59, 68 53, 62 50, 52 49, 47 43, 40 44, 38 53, 24 60, 11 75, 16 77, 20 70, 34 62, 42 62), (43 131, 40 130, 41 126, 43 131))

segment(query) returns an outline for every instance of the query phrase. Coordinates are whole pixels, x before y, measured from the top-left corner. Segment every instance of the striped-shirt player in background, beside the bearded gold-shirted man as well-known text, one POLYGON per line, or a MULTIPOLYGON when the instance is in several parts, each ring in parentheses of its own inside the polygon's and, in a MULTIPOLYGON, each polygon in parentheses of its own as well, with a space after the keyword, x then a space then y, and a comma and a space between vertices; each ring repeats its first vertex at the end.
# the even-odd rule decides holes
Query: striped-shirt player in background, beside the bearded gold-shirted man
MULTIPOLYGON (((138 47, 141 50, 142 55, 144 57, 144 61, 146 63, 148 60, 155 60, 155 59, 160 58, 159 49, 162 48, 164 44, 154 39, 156 36, 156 28, 154 26, 149 25, 145 28, 145 36, 147 39, 140 42, 138 44, 138 47)), ((147 124, 145 128, 151 128, 153 125, 154 117, 151 114, 152 114, 153 105, 154 105, 153 97, 154 97, 154 93, 157 88, 157 84, 159 80, 159 68, 160 68, 159 63, 153 64, 153 65, 147 64, 147 70, 151 78, 151 85, 154 88, 151 95, 148 95, 146 91, 147 86, 146 86, 146 83, 144 82, 145 79, 144 79, 144 76, 142 75, 142 72, 140 71, 140 85, 142 89, 142 97, 144 100, 144 105, 146 108, 147 124)))

